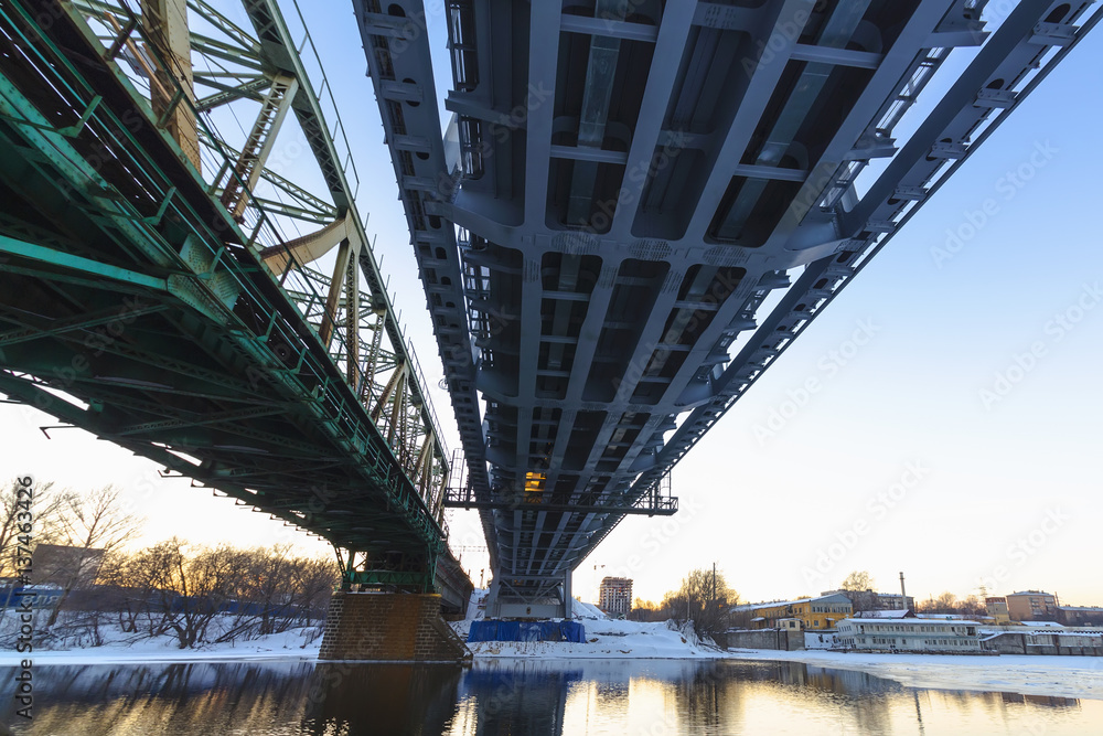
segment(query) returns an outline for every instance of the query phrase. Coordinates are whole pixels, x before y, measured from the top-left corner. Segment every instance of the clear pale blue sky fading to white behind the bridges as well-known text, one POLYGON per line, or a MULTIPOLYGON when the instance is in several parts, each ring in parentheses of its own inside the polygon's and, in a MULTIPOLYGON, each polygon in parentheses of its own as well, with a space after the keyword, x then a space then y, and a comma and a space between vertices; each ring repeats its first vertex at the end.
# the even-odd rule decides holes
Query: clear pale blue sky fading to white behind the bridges
MULTIPOLYGON (((367 231, 456 447, 351 4, 301 8, 339 99, 367 231)), ((451 76, 433 8, 443 84, 451 76)), ((247 25, 242 11, 226 12, 247 25)), ((623 520, 576 568, 577 595, 592 599, 602 576, 618 575, 657 601, 715 563, 743 600, 818 594, 864 569, 885 591, 899 590, 903 572, 921 598, 983 586, 1103 605, 1100 68, 1096 30, 674 469, 678 514, 623 520)), ((122 487, 147 518, 143 543, 178 535, 326 553, 79 429, 47 439, 39 427, 52 424, 0 405, 3 471, 122 487)), ((478 584, 485 561, 467 548, 484 544, 478 520, 449 518, 453 550, 478 584)))

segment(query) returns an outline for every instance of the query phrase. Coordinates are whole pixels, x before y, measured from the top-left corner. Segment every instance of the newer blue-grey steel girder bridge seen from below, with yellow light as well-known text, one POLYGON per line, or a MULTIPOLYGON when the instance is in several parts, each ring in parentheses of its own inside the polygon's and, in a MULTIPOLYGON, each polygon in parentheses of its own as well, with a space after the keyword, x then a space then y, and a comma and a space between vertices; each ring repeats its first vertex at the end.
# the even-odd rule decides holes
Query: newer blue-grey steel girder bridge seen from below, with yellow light
POLYGON ((480 511, 489 616, 568 615, 580 561, 625 514, 676 509, 671 469, 1100 18, 448 0, 442 135, 420 0, 353 2, 465 454, 445 504, 480 511))

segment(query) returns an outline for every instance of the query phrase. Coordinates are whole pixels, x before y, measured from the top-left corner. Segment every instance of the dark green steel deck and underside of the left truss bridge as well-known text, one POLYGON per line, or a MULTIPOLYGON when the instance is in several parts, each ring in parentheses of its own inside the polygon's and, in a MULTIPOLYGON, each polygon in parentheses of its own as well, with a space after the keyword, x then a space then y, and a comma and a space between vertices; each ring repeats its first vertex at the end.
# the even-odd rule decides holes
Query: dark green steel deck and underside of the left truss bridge
POLYGON ((0 392, 324 537, 346 584, 431 591, 431 433, 420 456, 381 434, 371 376, 281 286, 291 254, 271 270, 264 220, 243 232, 121 73, 144 32, 105 50, 56 2, 0 9, 0 392))

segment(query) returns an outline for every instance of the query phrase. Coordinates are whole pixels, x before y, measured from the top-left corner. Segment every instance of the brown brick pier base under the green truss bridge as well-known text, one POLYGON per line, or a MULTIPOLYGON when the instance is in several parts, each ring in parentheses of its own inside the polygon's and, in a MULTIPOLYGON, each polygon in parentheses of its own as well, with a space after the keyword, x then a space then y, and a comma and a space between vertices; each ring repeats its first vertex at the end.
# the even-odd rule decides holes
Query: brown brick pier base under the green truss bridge
POLYGON ((463 662, 471 652, 440 617, 439 595, 339 590, 318 659, 463 662))

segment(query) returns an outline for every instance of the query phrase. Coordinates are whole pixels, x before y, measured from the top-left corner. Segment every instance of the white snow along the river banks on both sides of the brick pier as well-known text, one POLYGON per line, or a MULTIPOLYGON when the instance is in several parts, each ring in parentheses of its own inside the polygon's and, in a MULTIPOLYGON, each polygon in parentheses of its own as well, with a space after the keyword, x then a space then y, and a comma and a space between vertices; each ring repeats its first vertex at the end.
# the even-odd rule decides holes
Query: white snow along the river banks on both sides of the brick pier
MULTIPOLYGON (((469 618, 452 625, 467 639, 470 621, 482 618, 473 599, 469 618)), ((639 622, 607 618, 596 607, 576 604, 575 619, 586 627, 586 643, 473 642, 469 644, 476 663, 486 666, 513 666, 511 662, 552 660, 568 664, 571 660, 586 666, 606 666, 602 660, 666 660, 674 665, 684 660, 738 659, 803 662, 810 666, 856 670, 901 685, 934 690, 1014 692, 1025 695, 1103 700, 1103 658, 1002 654, 972 657, 949 654, 848 653, 828 650, 775 651, 738 649, 724 651, 699 642, 692 631, 671 629, 665 622, 639 622), (496 664, 494 664, 496 663, 496 664)), ((181 650, 174 637, 130 642, 132 634, 105 627, 105 643, 90 647, 78 643, 56 651, 35 648, 30 653, 0 650, 0 666, 19 666, 23 659, 35 665, 51 664, 146 664, 172 662, 229 661, 314 661, 321 644, 320 627, 292 629, 248 641, 203 644, 181 650)), ((609 662, 615 668, 615 662, 609 662)), ((655 662, 658 666, 658 662, 655 662)))

